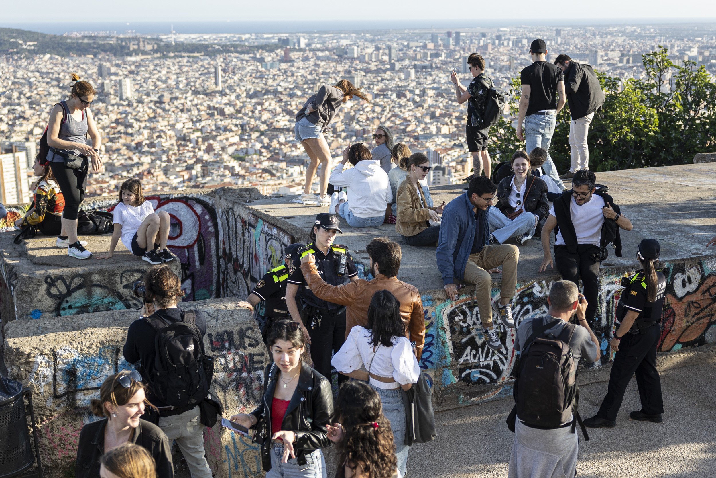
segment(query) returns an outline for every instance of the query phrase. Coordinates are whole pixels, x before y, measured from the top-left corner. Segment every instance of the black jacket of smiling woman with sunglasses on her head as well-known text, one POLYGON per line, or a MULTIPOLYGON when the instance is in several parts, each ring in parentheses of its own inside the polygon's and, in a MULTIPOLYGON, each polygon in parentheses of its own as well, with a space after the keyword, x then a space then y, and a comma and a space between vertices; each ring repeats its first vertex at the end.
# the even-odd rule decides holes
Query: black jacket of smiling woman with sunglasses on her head
MULTIPOLYGON (((105 454, 105 427, 107 419, 92 421, 82 427, 77 444, 77 461, 74 464, 76 478, 99 478, 100 457, 105 454)), ((130 438, 130 443, 142 446, 154 458, 157 478, 173 478, 174 466, 169 440, 155 424, 140 419, 130 438)))

